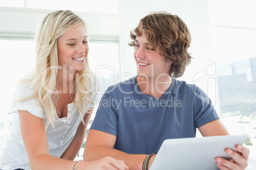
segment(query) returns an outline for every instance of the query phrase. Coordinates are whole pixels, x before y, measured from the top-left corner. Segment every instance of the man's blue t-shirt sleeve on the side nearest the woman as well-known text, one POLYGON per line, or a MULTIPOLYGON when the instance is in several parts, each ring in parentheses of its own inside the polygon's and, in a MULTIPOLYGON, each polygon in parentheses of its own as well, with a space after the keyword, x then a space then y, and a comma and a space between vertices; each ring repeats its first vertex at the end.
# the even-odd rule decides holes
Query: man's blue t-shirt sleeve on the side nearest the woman
POLYGON ((103 131, 117 136, 117 126, 118 116, 115 109, 115 103, 108 93, 104 93, 90 129, 103 131))

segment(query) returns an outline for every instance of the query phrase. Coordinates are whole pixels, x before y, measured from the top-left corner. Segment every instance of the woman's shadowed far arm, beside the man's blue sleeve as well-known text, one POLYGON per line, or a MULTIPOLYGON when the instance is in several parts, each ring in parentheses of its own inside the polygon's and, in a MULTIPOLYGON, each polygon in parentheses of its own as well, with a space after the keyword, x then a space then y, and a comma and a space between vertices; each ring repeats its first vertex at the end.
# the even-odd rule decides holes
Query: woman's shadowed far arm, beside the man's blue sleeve
POLYGON ((61 155, 62 159, 66 159, 66 160, 74 160, 75 159, 80 148, 82 147, 83 140, 85 138, 85 131, 86 131, 87 125, 90 121, 90 117, 92 116, 93 110, 94 109, 92 108, 89 111, 89 113, 85 114, 85 116, 83 117, 83 121, 85 122, 85 124, 83 124, 83 122, 80 122, 80 124, 76 130, 76 134, 75 134, 73 140, 71 141, 69 147, 61 155))

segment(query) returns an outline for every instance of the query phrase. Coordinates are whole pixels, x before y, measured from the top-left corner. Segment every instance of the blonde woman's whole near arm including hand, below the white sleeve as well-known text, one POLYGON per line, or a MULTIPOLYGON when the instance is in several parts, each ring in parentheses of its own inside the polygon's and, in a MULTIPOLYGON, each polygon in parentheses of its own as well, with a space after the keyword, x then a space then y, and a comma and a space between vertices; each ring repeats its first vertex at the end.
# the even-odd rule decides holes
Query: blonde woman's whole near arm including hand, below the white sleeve
MULTIPOLYGON (((31 169, 62 169, 70 170, 76 164, 76 161, 65 160, 53 157, 49 153, 48 140, 45 131, 43 119, 32 115, 25 110, 19 110, 20 129, 25 150, 29 158, 31 169)), ((82 161, 78 164, 78 170, 82 169, 128 169, 122 160, 116 160, 110 157, 96 160, 93 162, 82 161)))

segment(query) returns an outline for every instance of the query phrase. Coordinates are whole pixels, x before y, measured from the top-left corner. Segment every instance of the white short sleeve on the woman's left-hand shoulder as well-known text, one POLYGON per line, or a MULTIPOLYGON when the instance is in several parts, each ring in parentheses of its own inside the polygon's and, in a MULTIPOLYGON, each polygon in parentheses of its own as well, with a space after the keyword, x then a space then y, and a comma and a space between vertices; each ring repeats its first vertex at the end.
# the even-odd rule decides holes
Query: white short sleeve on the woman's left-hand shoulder
POLYGON ((29 96, 32 96, 32 88, 28 82, 20 82, 16 88, 16 91, 11 100, 11 104, 8 110, 8 114, 17 114, 18 110, 26 110, 32 115, 41 117, 43 119, 43 108, 36 98, 29 100, 18 101, 29 96))

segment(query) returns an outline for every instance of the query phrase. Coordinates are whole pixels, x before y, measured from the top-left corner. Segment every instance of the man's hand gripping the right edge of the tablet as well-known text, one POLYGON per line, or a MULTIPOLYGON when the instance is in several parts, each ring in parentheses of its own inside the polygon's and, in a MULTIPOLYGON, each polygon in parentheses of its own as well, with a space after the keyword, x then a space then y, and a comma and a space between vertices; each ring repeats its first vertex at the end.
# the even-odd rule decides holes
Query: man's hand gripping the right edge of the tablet
POLYGON ((232 169, 232 170, 244 170, 246 166, 248 166, 248 158, 250 150, 246 147, 241 145, 236 145, 236 150, 231 150, 227 148, 225 150, 226 154, 229 155, 232 159, 226 160, 221 157, 217 157, 216 164, 218 168, 225 170, 225 169, 232 169))

